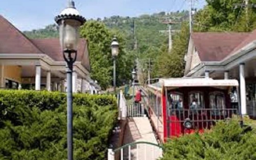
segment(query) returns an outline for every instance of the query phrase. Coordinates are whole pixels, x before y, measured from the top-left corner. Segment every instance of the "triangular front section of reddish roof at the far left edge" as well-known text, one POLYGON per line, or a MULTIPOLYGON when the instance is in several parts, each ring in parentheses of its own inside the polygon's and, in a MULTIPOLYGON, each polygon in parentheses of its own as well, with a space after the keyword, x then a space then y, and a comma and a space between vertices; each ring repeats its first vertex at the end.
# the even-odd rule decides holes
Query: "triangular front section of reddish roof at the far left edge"
POLYGON ((22 32, 0 15, 0 54, 42 54, 22 32))

